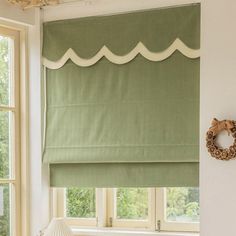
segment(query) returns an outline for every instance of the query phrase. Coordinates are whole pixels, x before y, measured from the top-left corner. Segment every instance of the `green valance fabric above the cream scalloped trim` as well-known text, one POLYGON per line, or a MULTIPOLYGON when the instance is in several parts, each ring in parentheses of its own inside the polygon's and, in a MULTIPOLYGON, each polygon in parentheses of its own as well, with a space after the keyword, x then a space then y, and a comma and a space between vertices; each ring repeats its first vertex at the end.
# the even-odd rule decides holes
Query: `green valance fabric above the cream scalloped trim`
POLYGON ((138 42, 150 51, 168 48, 176 38, 200 47, 200 5, 146 10, 44 23, 43 56, 57 61, 72 48, 80 57, 93 57, 104 45, 117 55, 129 53, 138 42))

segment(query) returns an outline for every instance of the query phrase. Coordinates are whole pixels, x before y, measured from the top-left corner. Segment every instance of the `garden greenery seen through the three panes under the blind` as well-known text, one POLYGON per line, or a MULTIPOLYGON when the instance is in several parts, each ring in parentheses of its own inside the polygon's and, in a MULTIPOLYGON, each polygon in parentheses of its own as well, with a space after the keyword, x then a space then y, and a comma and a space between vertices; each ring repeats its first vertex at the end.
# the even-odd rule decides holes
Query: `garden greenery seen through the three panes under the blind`
MULTIPOLYGON (((148 220, 150 192, 148 188, 117 188, 114 191, 114 212, 117 220, 148 220)), ((199 223, 199 189, 193 187, 165 188, 164 215, 166 222, 199 223)), ((159 201, 158 197, 156 201, 159 201)), ((67 188, 66 216, 96 218, 95 188, 67 188)), ((153 206, 155 207, 155 206, 153 206)), ((157 209, 158 211, 158 209, 157 209)))

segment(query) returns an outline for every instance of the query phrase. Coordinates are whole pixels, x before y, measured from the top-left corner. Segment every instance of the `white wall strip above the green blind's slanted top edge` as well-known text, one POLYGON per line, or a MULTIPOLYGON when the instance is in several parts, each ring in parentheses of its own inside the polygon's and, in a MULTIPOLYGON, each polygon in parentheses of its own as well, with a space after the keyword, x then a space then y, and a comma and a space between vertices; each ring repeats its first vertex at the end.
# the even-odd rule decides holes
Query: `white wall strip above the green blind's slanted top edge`
POLYGON ((44 21, 107 15, 141 9, 200 2, 201 0, 83 0, 44 8, 44 21))

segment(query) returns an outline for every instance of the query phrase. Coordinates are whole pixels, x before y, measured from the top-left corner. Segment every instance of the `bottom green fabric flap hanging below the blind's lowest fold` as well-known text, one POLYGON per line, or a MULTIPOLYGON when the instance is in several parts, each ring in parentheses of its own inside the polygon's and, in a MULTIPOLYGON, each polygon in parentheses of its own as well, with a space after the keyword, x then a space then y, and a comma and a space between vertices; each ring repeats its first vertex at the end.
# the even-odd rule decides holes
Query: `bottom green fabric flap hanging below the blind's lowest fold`
POLYGON ((51 164, 52 187, 198 186, 198 163, 51 164))

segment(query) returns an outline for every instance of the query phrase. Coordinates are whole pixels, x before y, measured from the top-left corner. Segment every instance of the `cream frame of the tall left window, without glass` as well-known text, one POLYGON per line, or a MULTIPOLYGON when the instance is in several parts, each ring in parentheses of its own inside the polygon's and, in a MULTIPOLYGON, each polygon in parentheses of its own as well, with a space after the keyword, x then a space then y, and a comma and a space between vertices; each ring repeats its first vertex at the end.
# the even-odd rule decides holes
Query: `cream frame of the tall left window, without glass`
MULTIPOLYGON (((0 34, 14 40, 14 106, 15 112, 13 236, 29 236, 29 163, 28 163, 28 60, 27 27, 0 19, 0 34), (15 208, 15 209, 14 209, 15 208)), ((0 110, 5 110, 1 106, 0 110)), ((5 180, 0 180, 0 183, 5 180)), ((9 182, 9 181, 8 181, 9 182)), ((6 183, 6 182, 5 182, 6 183)), ((12 215, 13 216, 13 215, 12 215)))

